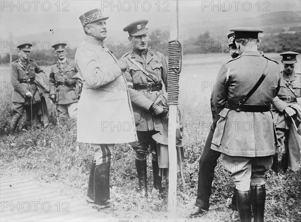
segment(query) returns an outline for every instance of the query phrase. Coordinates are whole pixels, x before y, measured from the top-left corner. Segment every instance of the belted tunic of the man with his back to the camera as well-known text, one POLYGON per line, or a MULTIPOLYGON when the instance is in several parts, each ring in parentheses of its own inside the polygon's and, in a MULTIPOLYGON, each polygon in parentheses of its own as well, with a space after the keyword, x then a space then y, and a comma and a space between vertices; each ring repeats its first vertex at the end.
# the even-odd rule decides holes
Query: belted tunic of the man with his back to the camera
MULTIPOLYGON (((247 100, 248 105, 271 104, 278 90, 279 66, 270 61, 270 69, 258 89, 247 100)), ((230 156, 268 156, 276 150, 275 127, 271 111, 238 112, 225 108, 226 102, 237 103, 261 77, 267 58, 259 52, 243 52, 224 64, 215 81, 213 103, 220 115, 211 149, 230 156)))

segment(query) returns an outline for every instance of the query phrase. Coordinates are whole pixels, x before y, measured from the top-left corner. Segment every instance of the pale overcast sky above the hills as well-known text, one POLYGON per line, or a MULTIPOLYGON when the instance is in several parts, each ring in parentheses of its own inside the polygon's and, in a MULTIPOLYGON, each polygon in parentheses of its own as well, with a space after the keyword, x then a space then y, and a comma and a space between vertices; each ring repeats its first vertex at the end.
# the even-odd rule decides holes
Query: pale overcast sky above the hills
MULTIPOLYGON (((241 19, 268 12, 300 11, 301 1, 180 1, 180 23, 241 19), (212 4, 213 3, 213 4, 212 4)), ((148 27, 176 23, 176 1, 1 1, 1 38, 81 28, 83 13, 100 8, 108 28, 149 20, 148 27)), ((251 25, 250 25, 251 26, 251 25)), ((193 30, 192 30, 193 32, 193 30)))

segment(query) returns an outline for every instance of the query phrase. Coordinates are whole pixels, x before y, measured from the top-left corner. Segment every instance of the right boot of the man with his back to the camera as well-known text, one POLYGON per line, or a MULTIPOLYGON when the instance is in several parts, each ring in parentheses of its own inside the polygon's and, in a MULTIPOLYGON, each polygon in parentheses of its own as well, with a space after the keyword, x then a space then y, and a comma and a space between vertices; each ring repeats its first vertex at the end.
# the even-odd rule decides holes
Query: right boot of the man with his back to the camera
POLYGON ((254 222, 264 221, 265 185, 251 186, 254 222))

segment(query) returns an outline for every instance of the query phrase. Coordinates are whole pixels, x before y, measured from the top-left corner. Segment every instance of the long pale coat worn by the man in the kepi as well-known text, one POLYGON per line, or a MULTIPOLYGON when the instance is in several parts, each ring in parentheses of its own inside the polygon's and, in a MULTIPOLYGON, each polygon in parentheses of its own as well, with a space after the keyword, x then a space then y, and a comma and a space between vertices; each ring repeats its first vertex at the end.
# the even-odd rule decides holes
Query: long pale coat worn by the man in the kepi
POLYGON ((77 110, 77 141, 112 144, 137 140, 127 85, 115 57, 102 42, 86 37, 75 62, 83 79, 77 110))

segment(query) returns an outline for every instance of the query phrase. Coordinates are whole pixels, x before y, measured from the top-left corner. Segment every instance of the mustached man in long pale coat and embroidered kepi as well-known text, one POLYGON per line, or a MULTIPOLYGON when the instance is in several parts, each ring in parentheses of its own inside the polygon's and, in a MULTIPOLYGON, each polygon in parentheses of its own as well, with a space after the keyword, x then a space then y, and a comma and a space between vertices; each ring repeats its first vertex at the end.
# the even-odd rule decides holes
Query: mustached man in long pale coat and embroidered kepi
MULTIPOLYGON (((75 62, 83 79, 78 102, 77 141, 90 143, 94 160, 90 170, 87 201, 102 209, 110 206, 109 170, 115 143, 136 141, 135 125, 125 77, 107 47, 106 20, 100 9, 79 17, 86 39, 78 46, 75 62)), ((120 68, 121 67, 121 68, 120 68)))

